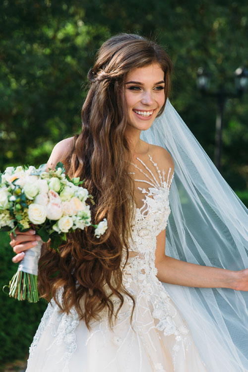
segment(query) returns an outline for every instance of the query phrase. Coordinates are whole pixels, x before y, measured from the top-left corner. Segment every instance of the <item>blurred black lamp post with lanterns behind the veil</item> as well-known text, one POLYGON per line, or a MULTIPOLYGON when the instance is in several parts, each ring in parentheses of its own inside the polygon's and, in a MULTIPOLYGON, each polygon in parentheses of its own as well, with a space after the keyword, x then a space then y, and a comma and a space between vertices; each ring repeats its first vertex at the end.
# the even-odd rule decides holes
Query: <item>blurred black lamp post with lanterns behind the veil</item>
POLYGON ((239 67, 235 71, 235 85, 237 93, 227 92, 221 84, 216 92, 209 91, 210 74, 203 68, 199 67, 197 71, 197 87, 202 95, 215 97, 217 100, 217 115, 215 129, 215 153, 214 163, 217 169, 221 168, 221 150, 222 150, 222 127, 223 127, 223 112, 228 98, 240 98, 248 87, 248 70, 239 67))

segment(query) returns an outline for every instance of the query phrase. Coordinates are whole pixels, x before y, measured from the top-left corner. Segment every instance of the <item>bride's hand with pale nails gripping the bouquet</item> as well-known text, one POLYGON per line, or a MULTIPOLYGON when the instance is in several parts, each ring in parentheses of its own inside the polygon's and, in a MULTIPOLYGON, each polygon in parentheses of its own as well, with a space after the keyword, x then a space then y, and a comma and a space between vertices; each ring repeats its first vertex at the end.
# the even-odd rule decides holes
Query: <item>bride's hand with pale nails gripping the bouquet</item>
POLYGON ((38 241, 41 240, 39 235, 35 235, 34 230, 29 230, 25 233, 20 232, 18 229, 15 230, 16 236, 13 233, 10 234, 10 246, 13 248, 13 251, 17 253, 13 258, 12 261, 17 263, 22 260, 24 257, 24 250, 34 248, 38 241))

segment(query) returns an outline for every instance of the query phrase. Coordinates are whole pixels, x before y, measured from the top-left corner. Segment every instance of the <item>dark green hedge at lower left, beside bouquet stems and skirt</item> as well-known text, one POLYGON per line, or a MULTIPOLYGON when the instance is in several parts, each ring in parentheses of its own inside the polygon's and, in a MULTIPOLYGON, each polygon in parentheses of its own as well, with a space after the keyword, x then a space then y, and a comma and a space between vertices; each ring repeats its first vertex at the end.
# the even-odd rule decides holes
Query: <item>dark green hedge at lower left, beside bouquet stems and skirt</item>
POLYGON ((5 293, 2 291, 17 270, 17 265, 11 261, 13 255, 8 234, 0 232, 0 366, 28 355, 32 338, 47 306, 43 300, 37 304, 14 300, 8 297, 6 288, 5 293))

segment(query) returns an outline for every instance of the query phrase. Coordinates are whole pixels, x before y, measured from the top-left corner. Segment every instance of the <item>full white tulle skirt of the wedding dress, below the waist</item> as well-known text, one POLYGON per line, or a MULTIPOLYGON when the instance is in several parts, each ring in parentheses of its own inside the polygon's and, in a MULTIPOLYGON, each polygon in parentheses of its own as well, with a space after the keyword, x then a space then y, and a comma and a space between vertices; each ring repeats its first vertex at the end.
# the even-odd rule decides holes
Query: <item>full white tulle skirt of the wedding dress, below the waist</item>
MULTIPOLYGON (((132 282, 135 295, 112 328, 107 314, 88 330, 74 309, 49 304, 30 348, 26 372, 206 372, 180 311, 161 283, 132 282)), ((212 371, 211 371, 212 372, 212 371)))

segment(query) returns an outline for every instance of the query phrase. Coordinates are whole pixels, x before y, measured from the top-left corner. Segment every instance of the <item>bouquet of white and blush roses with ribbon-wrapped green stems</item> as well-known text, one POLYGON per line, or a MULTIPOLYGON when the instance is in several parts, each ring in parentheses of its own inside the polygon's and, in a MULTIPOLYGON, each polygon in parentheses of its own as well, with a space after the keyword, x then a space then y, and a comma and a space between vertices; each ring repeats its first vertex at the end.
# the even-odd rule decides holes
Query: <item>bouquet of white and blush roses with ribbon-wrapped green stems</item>
POLYGON ((18 270, 9 282, 9 296, 18 300, 37 302, 38 260, 42 242, 50 240, 50 247, 58 250, 66 241, 66 234, 86 226, 95 228, 97 238, 107 229, 104 219, 98 225, 91 224, 90 205, 94 204, 88 190, 82 187, 79 177, 69 179, 62 163, 55 170, 45 171, 33 166, 7 167, 0 173, 0 231, 15 234, 36 230, 41 242, 25 252, 18 270))

